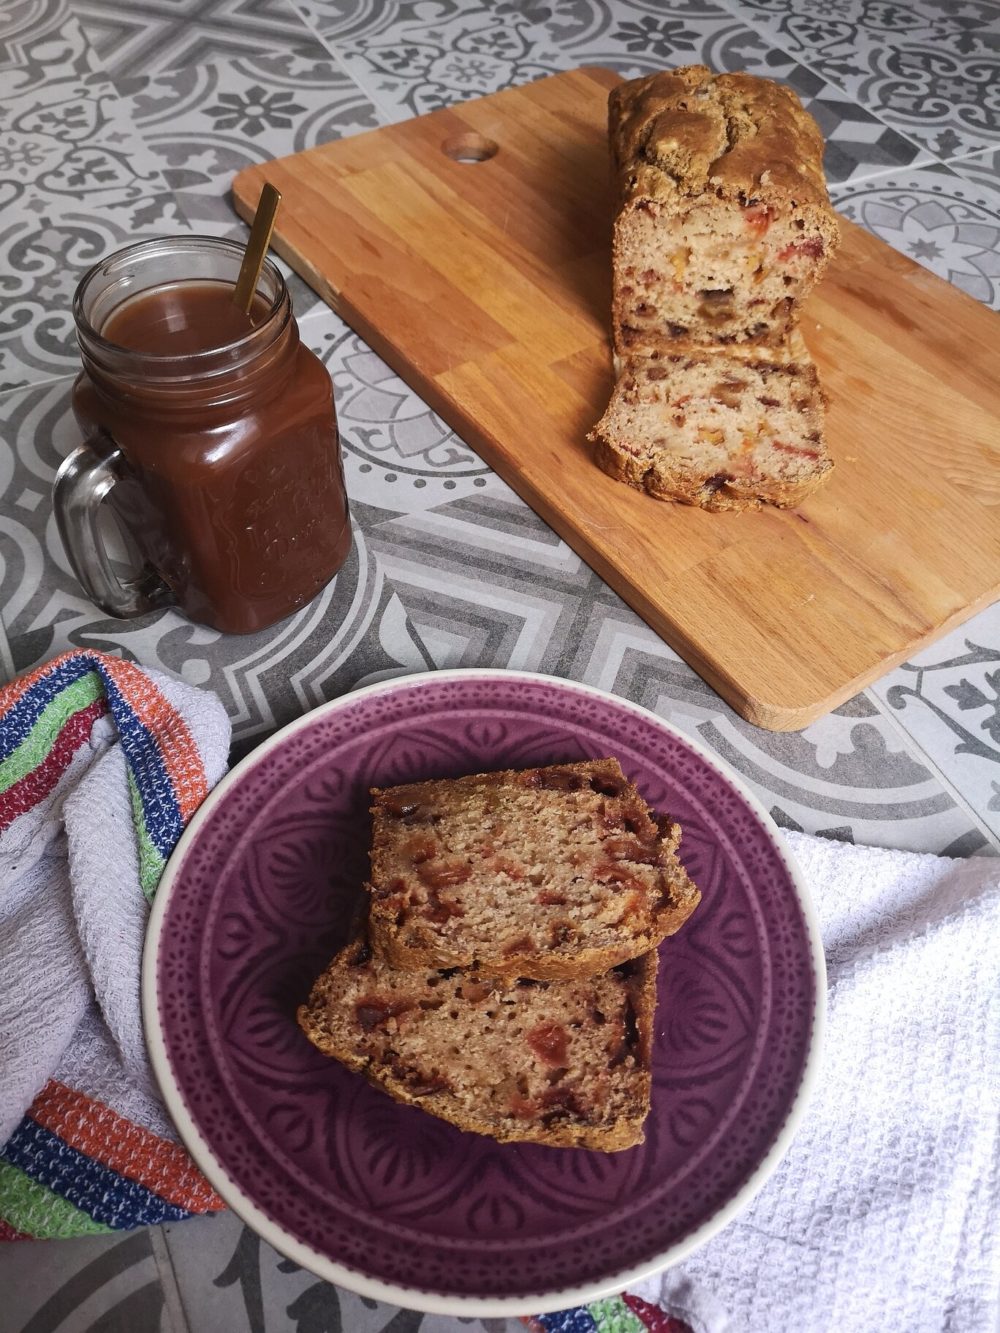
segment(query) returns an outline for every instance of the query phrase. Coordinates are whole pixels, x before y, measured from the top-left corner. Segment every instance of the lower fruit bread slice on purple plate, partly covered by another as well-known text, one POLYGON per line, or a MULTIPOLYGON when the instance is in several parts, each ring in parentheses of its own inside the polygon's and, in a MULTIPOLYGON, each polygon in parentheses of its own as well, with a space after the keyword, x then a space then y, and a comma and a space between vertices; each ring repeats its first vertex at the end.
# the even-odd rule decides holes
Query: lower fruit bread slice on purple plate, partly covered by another
POLYGON ((400 972, 365 940, 299 1009, 324 1054, 396 1101, 501 1142, 616 1152, 643 1141, 656 953, 577 981, 400 972))

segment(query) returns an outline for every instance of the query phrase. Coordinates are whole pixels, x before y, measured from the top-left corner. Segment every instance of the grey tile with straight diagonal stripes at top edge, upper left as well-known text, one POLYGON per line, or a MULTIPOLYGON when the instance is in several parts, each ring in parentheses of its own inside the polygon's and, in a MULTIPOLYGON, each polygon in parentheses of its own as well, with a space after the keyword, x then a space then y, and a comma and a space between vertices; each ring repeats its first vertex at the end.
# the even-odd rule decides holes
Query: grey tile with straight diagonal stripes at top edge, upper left
POLYGON ((69 0, 108 73, 284 51, 311 36, 285 0, 69 0))

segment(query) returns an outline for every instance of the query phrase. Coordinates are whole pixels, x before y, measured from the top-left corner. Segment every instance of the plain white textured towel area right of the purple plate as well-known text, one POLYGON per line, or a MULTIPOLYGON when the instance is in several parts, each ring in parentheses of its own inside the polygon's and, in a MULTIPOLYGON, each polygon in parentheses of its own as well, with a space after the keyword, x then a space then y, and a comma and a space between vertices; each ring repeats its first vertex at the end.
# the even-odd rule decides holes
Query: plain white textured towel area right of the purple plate
POLYGON ((751 1208, 635 1290, 696 1333, 995 1333, 1000 861, 788 842, 827 953, 816 1090, 751 1208))

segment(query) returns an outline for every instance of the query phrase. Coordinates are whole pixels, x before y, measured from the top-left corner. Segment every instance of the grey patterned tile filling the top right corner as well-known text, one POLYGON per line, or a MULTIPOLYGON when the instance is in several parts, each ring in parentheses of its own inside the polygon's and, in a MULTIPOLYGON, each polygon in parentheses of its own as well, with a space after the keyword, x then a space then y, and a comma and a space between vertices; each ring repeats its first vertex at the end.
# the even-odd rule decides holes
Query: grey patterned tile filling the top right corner
POLYGON ((936 159, 1000 143, 996 0, 725 3, 936 159))

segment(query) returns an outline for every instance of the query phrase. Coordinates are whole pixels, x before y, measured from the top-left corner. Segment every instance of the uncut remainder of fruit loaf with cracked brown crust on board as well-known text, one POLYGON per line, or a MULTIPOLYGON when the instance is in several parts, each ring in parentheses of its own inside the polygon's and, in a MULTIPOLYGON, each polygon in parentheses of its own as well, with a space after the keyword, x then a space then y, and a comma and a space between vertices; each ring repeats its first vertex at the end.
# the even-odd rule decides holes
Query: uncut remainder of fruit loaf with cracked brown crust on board
POLYGON ((615 88, 609 135, 616 352, 781 343, 840 240, 796 95, 688 65, 615 88))

